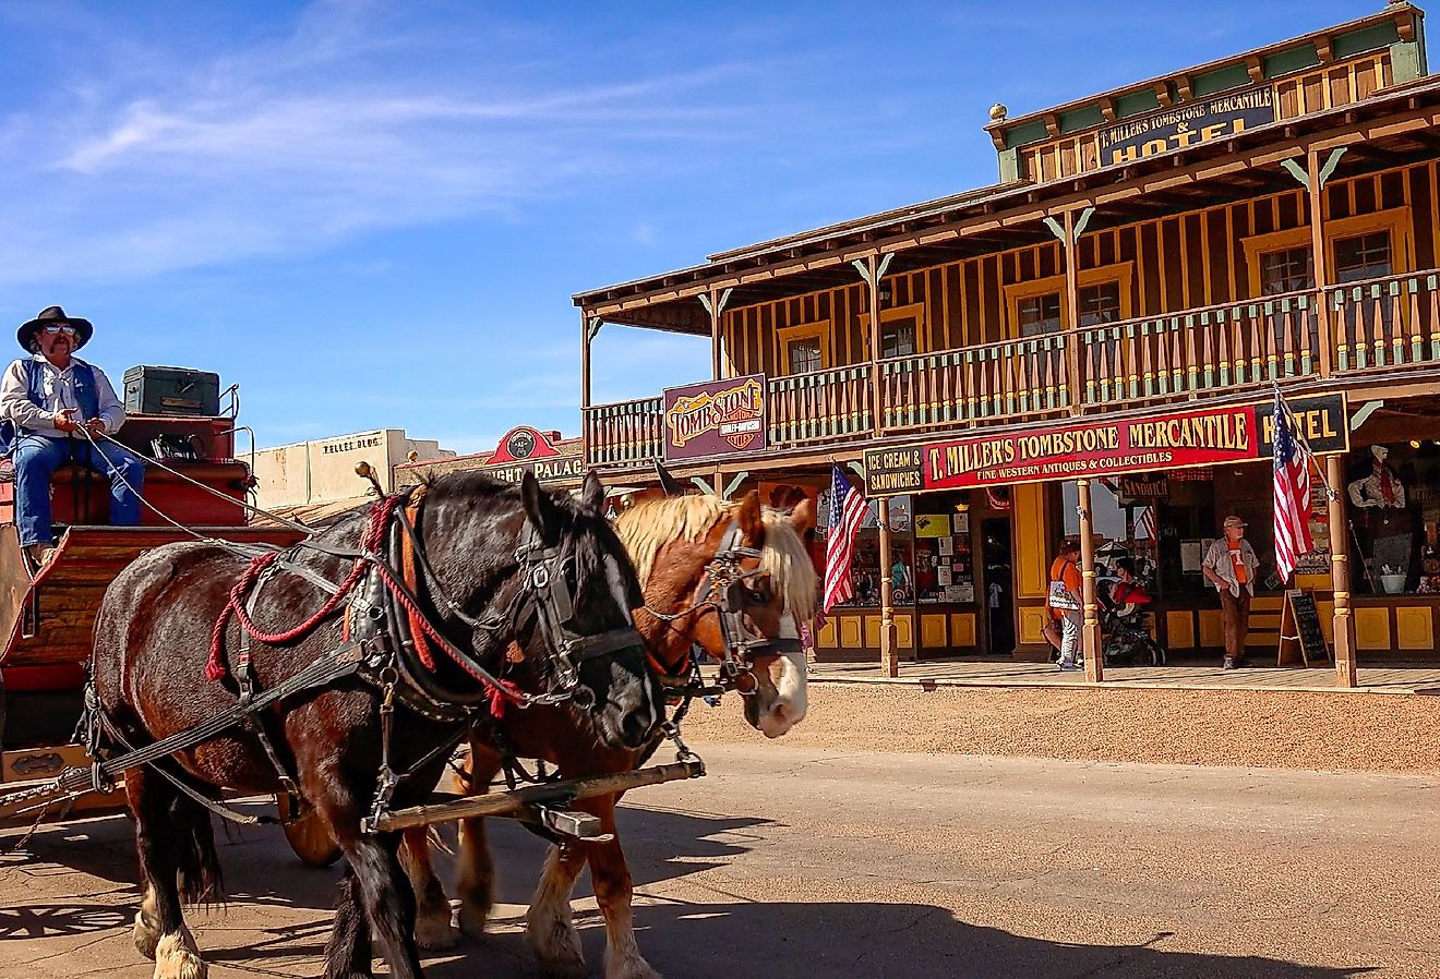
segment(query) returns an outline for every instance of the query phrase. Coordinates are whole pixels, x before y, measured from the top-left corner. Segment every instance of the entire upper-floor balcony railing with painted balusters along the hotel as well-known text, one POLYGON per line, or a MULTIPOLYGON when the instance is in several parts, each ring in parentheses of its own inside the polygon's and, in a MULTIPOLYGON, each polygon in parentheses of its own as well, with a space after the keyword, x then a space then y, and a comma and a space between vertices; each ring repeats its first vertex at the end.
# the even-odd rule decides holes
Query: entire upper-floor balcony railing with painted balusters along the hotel
MULTIPOLYGON (((1437 269, 768 377, 765 455, 1253 399, 1274 384, 1341 390, 1397 369, 1440 376, 1437 269)), ((651 465, 664 458, 662 425, 660 396, 585 409, 586 464, 651 465)))

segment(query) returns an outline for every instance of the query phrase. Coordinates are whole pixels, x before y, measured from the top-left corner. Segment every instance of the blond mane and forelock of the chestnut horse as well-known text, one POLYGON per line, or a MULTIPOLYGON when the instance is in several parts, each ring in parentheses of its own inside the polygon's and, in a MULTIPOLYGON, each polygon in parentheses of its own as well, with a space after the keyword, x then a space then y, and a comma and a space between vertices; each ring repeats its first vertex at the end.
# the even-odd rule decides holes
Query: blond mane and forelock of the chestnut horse
MULTIPOLYGON (((655 559, 675 540, 701 540, 720 521, 740 507, 739 501, 711 495, 664 497, 642 500, 615 521, 615 531, 629 553, 641 587, 655 570, 655 559)), ((789 514, 763 507, 765 547, 760 549, 760 570, 770 576, 783 596, 786 610, 798 622, 815 616, 819 582, 805 541, 795 531, 789 514)))

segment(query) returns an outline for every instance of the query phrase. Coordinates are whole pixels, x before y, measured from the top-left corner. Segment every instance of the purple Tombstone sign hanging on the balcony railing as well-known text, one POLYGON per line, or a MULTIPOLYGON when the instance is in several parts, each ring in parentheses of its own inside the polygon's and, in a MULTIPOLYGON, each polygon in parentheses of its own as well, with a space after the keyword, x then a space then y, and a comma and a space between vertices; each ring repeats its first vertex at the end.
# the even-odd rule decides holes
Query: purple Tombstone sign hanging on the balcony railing
POLYGON ((667 387, 665 458, 763 451, 765 389, 765 374, 667 387))

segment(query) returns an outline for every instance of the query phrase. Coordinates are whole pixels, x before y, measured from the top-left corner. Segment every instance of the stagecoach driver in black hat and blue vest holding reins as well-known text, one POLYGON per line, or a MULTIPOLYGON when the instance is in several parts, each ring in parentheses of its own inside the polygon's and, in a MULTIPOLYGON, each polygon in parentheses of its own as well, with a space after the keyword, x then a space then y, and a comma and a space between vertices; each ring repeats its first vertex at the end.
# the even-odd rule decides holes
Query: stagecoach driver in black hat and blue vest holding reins
POLYGON ((16 426, 16 527, 20 546, 37 567, 55 553, 50 477, 66 461, 109 477, 112 524, 140 523, 144 464, 101 438, 120 430, 125 409, 104 371, 75 356, 92 334, 89 320, 49 307, 16 333, 20 347, 32 356, 13 361, 0 380, 0 416, 16 426))

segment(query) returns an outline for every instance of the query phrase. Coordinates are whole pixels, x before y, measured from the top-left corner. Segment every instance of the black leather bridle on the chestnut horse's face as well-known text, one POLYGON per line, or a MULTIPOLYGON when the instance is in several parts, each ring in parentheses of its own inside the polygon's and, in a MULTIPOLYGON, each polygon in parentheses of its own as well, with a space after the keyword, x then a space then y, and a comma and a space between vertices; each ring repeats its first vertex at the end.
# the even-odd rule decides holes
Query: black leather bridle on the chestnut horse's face
MULTIPOLYGON (((753 697, 759 684, 755 678, 755 657, 762 652, 786 654, 799 652, 799 639, 769 638, 756 635, 746 622, 744 599, 747 595, 746 582, 757 577, 759 567, 744 567, 744 561, 760 559, 760 550, 744 544, 744 530, 740 521, 730 518, 730 527, 714 556, 706 561, 704 576, 696 587, 696 597, 688 608, 675 613, 657 612, 648 605, 645 610, 662 622, 678 622, 694 613, 711 610, 719 618, 721 658, 716 678, 716 687, 721 691, 736 691, 744 697, 753 697)), ((694 678, 694 654, 684 667, 684 672, 677 675, 671 669, 661 668, 664 680, 678 685, 681 681, 690 682, 694 678)), ((654 659, 652 659, 654 662, 654 659)), ((655 664, 660 667, 660 664, 655 664)))

